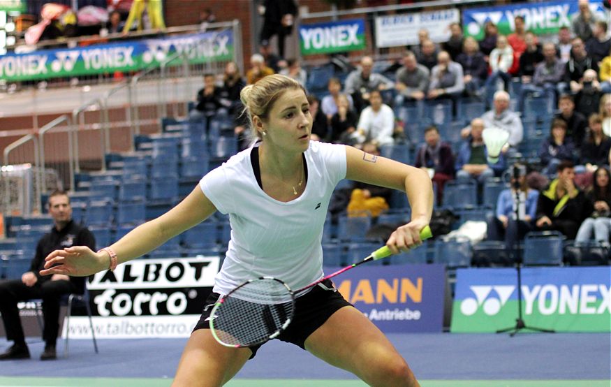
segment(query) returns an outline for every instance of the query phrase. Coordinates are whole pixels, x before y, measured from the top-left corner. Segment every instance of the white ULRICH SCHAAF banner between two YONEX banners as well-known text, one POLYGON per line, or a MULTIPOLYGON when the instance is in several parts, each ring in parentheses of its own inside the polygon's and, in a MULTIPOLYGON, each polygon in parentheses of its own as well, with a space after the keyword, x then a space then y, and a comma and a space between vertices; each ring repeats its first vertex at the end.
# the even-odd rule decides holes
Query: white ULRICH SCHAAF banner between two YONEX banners
POLYGON ((427 29, 432 41, 446 42, 450 38, 450 24, 460 22, 457 9, 434 10, 421 13, 376 17, 376 46, 396 47, 418 43, 418 31, 427 29))

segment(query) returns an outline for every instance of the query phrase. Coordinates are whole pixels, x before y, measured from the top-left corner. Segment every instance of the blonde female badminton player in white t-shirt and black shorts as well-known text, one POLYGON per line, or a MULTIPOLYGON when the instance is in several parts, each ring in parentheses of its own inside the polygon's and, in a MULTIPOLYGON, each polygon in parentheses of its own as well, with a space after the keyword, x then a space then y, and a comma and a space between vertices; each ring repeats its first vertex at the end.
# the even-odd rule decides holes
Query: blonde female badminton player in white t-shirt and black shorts
MULTIPOLYGON (((256 355, 258 346, 229 348, 209 329, 219 295, 260 276, 290 288, 323 278, 321 236, 335 185, 357 180, 405 191, 411 221, 386 245, 395 254, 420 244, 429 224, 431 180, 418 168, 354 147, 310 140, 312 117, 302 85, 283 75, 244 87, 242 102, 258 142, 207 173, 198 187, 161 217, 138 226, 97 253, 87 247, 47 256, 43 275, 86 276, 147 254, 215 211, 229 214, 231 240, 212 295, 186 344, 175 386, 221 386, 256 355), (110 262, 110 264, 109 264, 110 262)), ((367 317, 327 280, 297 297, 279 339, 352 372, 370 386, 419 386, 406 361, 367 317)))

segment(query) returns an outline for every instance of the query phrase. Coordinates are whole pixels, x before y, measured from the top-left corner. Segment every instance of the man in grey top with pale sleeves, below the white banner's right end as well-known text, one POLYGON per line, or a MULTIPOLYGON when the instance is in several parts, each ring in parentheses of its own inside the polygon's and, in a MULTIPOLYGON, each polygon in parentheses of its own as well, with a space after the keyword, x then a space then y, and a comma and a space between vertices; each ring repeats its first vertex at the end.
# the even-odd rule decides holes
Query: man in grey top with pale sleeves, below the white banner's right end
POLYGON ((462 66, 450 60, 450 54, 441 51, 437 55, 437 65, 431 71, 431 84, 427 98, 451 99, 452 113, 456 115, 457 103, 464 91, 462 66))

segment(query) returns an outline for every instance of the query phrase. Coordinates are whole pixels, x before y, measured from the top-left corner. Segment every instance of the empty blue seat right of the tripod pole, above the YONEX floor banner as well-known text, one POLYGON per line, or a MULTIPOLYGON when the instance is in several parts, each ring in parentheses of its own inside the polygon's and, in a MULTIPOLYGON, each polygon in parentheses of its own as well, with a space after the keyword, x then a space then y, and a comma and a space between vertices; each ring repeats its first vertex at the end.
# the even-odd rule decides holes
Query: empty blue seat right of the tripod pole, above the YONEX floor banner
POLYGON ((524 237, 524 265, 562 265, 564 240, 558 231, 531 231, 524 237))

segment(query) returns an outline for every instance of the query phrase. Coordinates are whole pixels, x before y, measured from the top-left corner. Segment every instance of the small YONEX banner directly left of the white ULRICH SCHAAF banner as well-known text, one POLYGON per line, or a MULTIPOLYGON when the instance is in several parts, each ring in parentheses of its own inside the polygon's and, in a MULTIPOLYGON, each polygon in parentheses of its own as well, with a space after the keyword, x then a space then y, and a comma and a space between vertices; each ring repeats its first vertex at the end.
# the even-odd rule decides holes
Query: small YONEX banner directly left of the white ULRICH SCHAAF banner
POLYGON ((355 19, 304 24, 299 27, 299 41, 303 55, 365 50, 365 22, 355 19))

